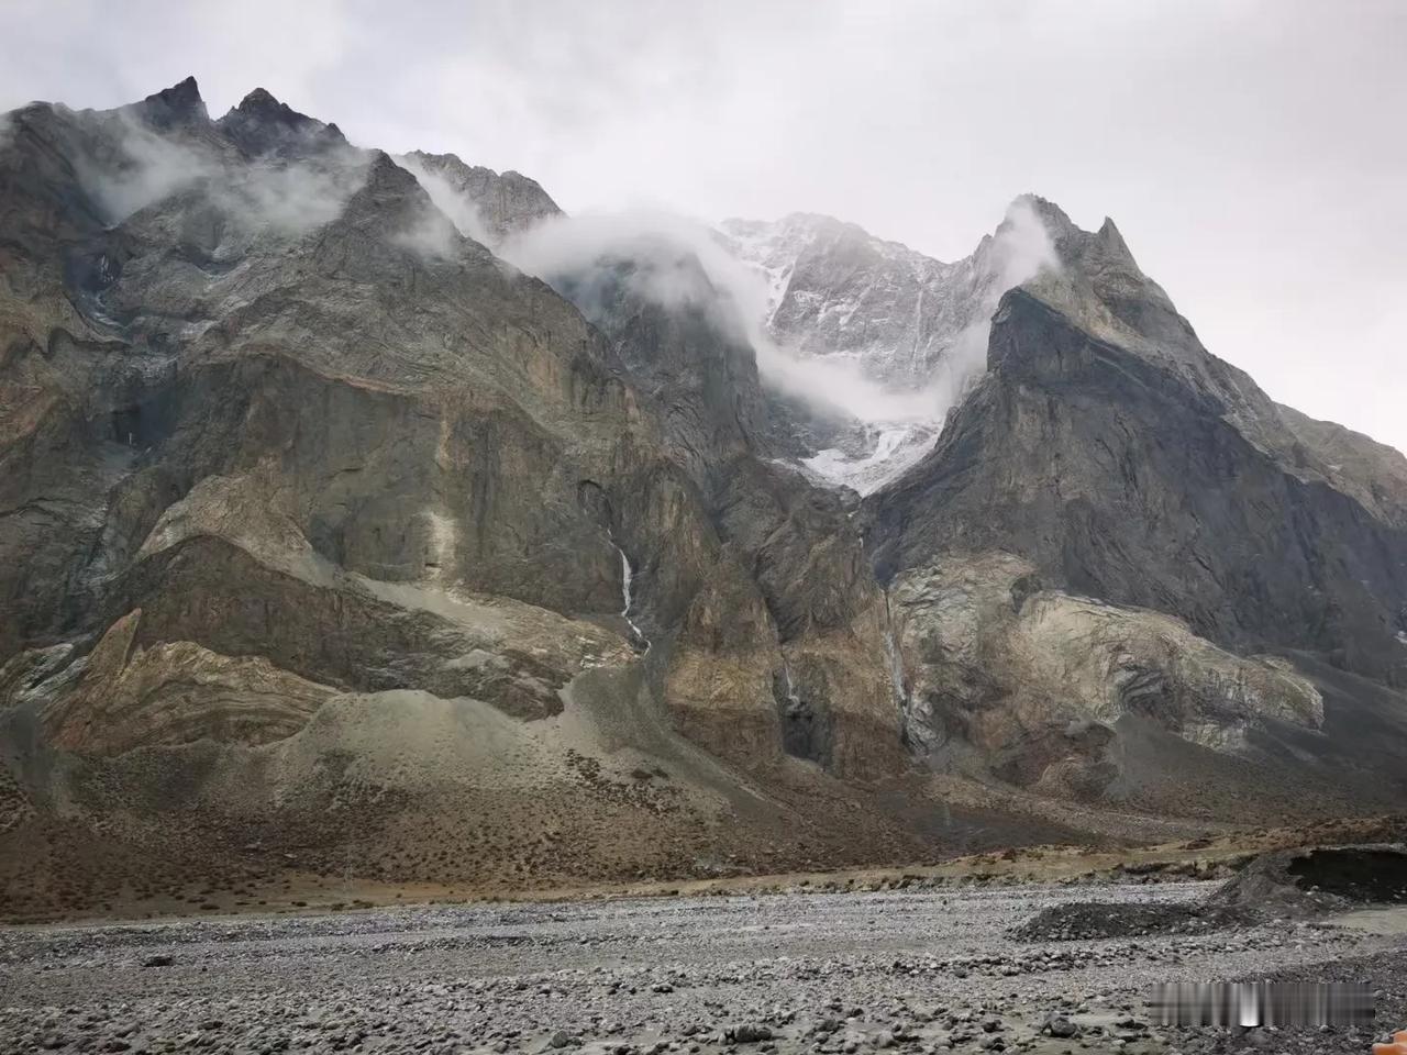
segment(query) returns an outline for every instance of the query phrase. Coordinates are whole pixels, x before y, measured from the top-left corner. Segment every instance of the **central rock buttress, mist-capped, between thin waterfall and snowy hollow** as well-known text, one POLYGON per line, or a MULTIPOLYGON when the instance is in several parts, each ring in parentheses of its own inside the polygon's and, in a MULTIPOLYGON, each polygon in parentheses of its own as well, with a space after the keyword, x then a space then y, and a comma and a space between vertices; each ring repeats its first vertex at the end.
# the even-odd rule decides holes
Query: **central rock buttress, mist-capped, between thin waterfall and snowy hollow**
POLYGON ((720 546, 698 568, 702 591, 680 581, 668 539, 647 546, 639 568, 666 606, 654 618, 682 620, 685 648, 671 647, 666 672, 674 712, 719 754, 751 729, 746 741, 837 772, 892 772, 899 715, 881 660, 882 595, 843 497, 765 457, 767 399, 732 305, 698 257, 667 241, 606 252, 553 281, 619 352, 720 546), (667 301, 650 295, 664 286, 667 301), (749 698, 772 706, 737 715, 749 698), (715 713, 736 717, 715 724, 715 713))

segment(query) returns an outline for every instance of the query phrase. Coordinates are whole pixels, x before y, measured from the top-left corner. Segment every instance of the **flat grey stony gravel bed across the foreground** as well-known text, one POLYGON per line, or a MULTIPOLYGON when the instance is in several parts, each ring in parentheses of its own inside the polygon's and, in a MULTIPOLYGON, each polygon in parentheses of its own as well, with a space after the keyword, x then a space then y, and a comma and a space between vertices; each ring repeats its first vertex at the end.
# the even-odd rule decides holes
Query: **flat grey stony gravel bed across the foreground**
MULTIPOLYGON (((1207 890, 1116 885, 1079 899, 1207 890)), ((1069 899, 1019 886, 7 928, 0 1051, 1157 1052, 1169 1045, 1142 1006, 1154 982, 1316 976, 1328 961, 1362 964, 1355 976, 1383 989, 1382 1013, 1407 1010, 1393 968, 1407 934, 1390 926, 1007 934, 1069 899), (1038 1035, 1048 1013, 1079 1035, 1038 1035), (739 1027, 758 1028, 729 1034, 739 1027)), ((1362 1052, 1372 1037, 1173 1040, 1183 1052, 1362 1052)))

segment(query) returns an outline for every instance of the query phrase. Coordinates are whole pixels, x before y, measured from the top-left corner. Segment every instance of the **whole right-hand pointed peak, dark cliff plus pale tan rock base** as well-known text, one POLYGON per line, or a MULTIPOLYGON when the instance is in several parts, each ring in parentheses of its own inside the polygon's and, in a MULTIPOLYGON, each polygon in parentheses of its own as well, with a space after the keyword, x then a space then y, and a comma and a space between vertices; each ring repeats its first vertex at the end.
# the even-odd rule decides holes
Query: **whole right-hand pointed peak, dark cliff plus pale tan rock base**
POLYGON ((1401 456, 1272 404, 1206 353, 1113 224, 1040 208, 1059 267, 1003 297, 988 373, 865 504, 910 641, 910 741, 1168 810, 1289 803, 1296 781, 1377 798, 1400 706, 1387 740, 1366 685, 1372 713, 1339 695, 1325 723, 1324 685, 1292 671, 1407 677, 1401 456), (1359 719, 1375 734, 1352 734, 1359 719), (1151 760, 1148 722, 1200 761, 1151 760), (1269 775, 1285 767, 1290 782, 1269 775))

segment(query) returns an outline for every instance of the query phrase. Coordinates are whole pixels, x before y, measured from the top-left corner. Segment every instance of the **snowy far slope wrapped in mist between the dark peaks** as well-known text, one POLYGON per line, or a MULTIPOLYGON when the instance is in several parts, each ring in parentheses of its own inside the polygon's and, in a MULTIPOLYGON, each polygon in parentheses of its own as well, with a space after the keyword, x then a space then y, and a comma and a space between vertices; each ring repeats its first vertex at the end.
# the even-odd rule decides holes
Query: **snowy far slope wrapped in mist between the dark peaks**
POLYGON ((767 332, 799 360, 810 394, 820 391, 864 425, 803 463, 861 494, 931 446, 947 411, 985 369, 998 300, 1055 260, 1024 198, 955 263, 808 212, 771 224, 729 219, 722 229, 764 277, 767 332))

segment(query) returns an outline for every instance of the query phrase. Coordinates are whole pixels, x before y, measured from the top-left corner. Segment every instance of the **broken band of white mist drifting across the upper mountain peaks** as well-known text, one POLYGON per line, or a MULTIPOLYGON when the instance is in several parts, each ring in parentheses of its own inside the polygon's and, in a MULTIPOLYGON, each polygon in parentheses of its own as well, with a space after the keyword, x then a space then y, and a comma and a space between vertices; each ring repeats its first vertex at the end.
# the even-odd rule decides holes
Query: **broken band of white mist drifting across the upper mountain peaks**
MULTIPOLYGON (((129 114, 106 118, 101 156, 80 162, 80 177, 111 224, 174 194, 197 193, 246 235, 301 235, 335 219, 362 186, 370 155, 332 148, 310 159, 246 162, 217 145, 159 135, 129 114)), ((425 191, 425 208, 394 241, 428 259, 453 259, 461 238, 488 243, 476 203, 415 156, 395 162, 425 191)), ((1057 267, 1055 250, 1027 198, 1007 208, 995 235, 957 269, 976 271, 975 297, 961 332, 937 336, 943 354, 930 376, 898 383, 846 354, 802 354, 767 326, 772 288, 765 271, 740 259, 716 228, 664 211, 588 212, 542 221, 495 246, 522 271, 568 293, 590 315, 622 277, 630 290, 666 308, 705 311, 720 332, 753 349, 763 383, 799 398, 826 418, 867 426, 867 449, 823 450, 812 467, 832 480, 864 487, 922 456, 953 407, 986 370, 991 315, 1006 290, 1057 267), (618 269, 616 264, 626 264, 618 269)), ((941 270, 941 269, 940 269, 941 270)), ((922 325, 919 319, 915 325, 922 325)))

